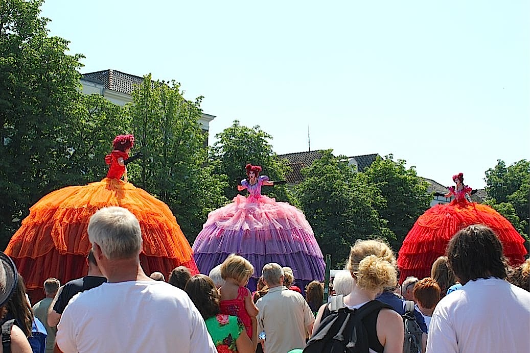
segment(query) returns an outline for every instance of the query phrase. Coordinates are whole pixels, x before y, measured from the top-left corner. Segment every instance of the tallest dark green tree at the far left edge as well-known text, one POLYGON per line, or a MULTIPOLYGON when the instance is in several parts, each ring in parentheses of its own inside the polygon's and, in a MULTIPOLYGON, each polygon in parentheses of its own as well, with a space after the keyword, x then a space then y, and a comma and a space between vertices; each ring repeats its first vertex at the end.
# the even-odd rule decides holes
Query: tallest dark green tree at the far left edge
POLYGON ((0 241, 5 245, 31 204, 68 179, 70 105, 81 55, 48 37, 42 0, 0 5, 0 241))

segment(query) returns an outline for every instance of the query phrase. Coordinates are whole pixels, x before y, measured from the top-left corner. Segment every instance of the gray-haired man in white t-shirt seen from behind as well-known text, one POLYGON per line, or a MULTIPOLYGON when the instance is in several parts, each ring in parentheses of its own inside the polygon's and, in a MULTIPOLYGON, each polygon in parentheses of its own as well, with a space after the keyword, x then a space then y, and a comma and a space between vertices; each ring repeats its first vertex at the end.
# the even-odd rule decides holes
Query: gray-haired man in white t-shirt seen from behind
POLYGON ((107 283, 77 294, 58 325, 63 352, 216 352, 204 320, 185 292, 140 267, 142 232, 122 207, 89 222, 94 256, 107 283), (156 333, 156 334, 153 334, 156 333))

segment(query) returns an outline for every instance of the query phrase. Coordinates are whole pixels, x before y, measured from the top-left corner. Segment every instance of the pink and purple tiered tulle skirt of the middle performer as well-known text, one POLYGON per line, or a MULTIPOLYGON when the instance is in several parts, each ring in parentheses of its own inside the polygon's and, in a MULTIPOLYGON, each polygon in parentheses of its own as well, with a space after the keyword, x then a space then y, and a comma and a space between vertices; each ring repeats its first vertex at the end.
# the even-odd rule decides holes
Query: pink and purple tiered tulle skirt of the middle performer
POLYGON ((237 195, 232 203, 210 212, 193 252, 205 274, 234 252, 250 261, 254 277, 261 275, 265 264, 278 263, 291 267, 296 279, 324 279, 322 251, 304 214, 265 195, 237 195))

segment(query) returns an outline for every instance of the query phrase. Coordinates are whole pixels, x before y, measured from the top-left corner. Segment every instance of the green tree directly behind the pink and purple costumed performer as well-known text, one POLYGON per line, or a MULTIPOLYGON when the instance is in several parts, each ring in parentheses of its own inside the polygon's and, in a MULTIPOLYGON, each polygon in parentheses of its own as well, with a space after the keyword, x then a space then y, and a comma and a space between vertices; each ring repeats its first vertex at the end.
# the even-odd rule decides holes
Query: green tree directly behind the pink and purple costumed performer
MULTIPOLYGON (((217 174, 228 176, 225 196, 232 199, 237 194, 237 184, 246 178, 245 165, 259 165, 262 174, 270 180, 283 180, 289 169, 285 161, 278 159, 272 151, 272 136, 260 129, 240 125, 235 120, 232 126, 215 135, 217 141, 211 149, 211 160, 217 174)), ((264 188, 263 192, 278 201, 291 201, 285 186, 264 188)))

